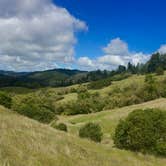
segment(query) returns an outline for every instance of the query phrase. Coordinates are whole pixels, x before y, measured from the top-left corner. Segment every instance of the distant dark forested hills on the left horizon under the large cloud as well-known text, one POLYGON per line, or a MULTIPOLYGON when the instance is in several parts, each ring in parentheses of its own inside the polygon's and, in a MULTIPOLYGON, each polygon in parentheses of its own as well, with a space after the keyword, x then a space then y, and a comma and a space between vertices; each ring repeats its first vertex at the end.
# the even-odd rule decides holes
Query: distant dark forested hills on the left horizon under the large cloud
POLYGON ((0 87, 22 86, 38 88, 45 86, 67 86, 78 83, 86 71, 54 69, 36 72, 13 72, 0 70, 0 87))

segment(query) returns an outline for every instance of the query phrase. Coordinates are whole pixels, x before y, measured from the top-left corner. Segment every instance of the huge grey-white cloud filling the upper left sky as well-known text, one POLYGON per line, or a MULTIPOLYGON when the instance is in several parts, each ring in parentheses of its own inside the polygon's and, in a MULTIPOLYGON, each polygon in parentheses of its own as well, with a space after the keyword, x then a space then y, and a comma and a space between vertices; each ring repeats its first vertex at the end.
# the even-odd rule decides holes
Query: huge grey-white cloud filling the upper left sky
POLYGON ((45 70, 72 62, 75 32, 86 29, 51 0, 1 0, 0 68, 45 70))

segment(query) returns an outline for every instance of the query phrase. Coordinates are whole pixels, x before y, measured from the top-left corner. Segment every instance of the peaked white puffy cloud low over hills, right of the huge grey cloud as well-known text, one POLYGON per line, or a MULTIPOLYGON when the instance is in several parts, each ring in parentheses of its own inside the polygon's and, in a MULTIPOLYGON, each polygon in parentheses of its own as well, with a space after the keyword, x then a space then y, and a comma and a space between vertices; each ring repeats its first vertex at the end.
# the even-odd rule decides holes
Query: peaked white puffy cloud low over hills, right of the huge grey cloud
POLYGON ((89 59, 90 63, 81 63, 84 59, 79 59, 79 65, 81 68, 94 69, 107 69, 112 70, 119 65, 127 65, 128 62, 132 64, 145 63, 150 58, 150 55, 142 52, 132 52, 128 49, 128 44, 120 38, 115 38, 103 48, 103 55, 97 59, 89 59), (88 66, 88 64, 90 64, 88 66))

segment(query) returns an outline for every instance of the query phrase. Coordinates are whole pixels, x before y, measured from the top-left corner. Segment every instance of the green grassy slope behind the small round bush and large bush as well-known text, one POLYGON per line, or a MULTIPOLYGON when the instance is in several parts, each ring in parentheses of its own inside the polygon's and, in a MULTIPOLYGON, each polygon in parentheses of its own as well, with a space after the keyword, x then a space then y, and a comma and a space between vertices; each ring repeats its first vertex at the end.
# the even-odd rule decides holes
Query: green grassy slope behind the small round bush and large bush
POLYGON ((161 98, 142 104, 87 115, 61 116, 59 121, 68 124, 69 132, 75 135, 78 135, 79 128, 85 123, 96 122, 101 125, 104 132, 103 144, 112 146, 112 136, 119 120, 125 118, 135 109, 145 108, 159 108, 166 110, 166 99, 161 98))

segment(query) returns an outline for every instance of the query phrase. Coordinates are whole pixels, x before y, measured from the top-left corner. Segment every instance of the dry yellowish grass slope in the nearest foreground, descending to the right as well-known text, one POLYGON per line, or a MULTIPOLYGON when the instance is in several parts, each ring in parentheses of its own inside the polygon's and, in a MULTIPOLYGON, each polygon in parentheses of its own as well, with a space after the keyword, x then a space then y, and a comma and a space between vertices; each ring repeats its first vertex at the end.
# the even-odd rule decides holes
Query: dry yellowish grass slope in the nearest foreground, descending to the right
POLYGON ((81 140, 3 107, 0 129, 0 166, 161 166, 166 162, 81 140))

